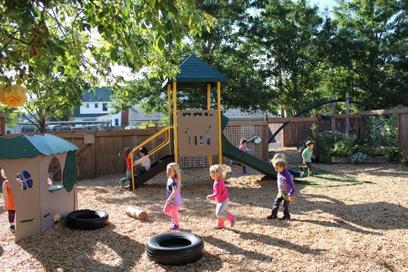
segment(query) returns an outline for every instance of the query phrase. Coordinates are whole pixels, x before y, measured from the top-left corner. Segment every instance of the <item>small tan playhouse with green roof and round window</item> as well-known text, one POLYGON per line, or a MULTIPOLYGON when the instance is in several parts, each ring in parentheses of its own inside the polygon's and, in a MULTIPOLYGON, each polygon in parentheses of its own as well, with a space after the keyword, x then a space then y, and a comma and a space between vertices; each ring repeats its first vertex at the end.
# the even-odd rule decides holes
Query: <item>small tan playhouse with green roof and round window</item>
POLYGON ((54 135, 0 137, 0 166, 15 200, 15 241, 41 234, 78 210, 76 154, 78 147, 54 135), (51 187, 47 173, 62 180, 51 187), (17 182, 18 173, 21 185, 17 182))

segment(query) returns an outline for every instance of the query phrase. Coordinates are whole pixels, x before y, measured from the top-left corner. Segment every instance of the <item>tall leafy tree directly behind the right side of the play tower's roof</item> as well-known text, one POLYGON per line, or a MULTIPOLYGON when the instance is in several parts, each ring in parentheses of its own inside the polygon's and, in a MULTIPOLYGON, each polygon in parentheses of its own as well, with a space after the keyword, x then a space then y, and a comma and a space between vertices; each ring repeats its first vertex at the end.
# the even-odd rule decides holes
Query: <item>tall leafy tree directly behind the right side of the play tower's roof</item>
POLYGON ((253 1, 198 1, 198 4, 198 8, 216 17, 216 22, 211 31, 195 35, 190 48, 227 76, 228 82, 223 83, 221 92, 223 108, 273 112, 269 99, 273 93, 266 86, 259 65, 260 50, 248 35, 248 25, 254 16, 250 11, 253 1))

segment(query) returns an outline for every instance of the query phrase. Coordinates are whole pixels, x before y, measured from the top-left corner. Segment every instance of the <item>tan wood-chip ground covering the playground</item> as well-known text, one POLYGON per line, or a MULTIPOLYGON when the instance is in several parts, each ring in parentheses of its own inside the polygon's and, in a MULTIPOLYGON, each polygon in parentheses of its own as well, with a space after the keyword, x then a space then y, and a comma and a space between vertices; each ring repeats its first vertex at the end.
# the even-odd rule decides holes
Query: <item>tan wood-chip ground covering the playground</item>
MULTIPOLYGON (((268 220, 275 180, 227 176, 229 211, 235 229, 212 230, 215 203, 208 169, 182 171, 180 230, 205 243, 204 257, 182 267, 163 266, 146 257, 149 237, 169 232, 162 213, 165 173, 134 192, 117 186, 121 176, 78 182, 80 209, 108 212, 99 230, 71 230, 65 220, 42 235, 15 244, 1 211, 2 271, 408 271, 408 167, 395 164, 315 164, 315 167, 371 182, 346 187, 296 184, 291 221, 268 220), (126 215, 129 206, 148 213, 146 220, 126 215)), ((307 178, 305 178, 307 180, 307 178)), ((282 216, 282 212, 278 214, 282 216)))

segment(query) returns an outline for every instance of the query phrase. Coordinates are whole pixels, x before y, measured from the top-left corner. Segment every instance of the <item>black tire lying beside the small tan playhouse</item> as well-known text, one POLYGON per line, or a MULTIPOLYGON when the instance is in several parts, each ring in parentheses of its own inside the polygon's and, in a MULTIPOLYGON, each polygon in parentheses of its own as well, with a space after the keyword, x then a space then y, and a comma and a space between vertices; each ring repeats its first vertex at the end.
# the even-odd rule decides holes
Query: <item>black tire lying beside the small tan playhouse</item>
POLYGON ((101 210, 76 210, 67 215, 67 227, 75 230, 96 230, 108 223, 108 214, 101 210))

